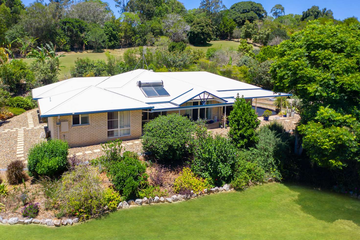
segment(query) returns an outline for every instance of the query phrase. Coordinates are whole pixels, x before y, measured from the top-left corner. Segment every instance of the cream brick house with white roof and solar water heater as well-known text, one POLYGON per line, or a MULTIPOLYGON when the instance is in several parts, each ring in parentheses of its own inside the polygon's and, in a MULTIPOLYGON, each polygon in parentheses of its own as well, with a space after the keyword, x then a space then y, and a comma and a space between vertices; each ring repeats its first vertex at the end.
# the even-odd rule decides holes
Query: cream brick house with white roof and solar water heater
POLYGON ((163 114, 216 121, 228 114, 238 93, 248 101, 290 95, 208 72, 137 69, 112 77, 70 78, 33 89, 32 98, 40 116, 48 118, 51 138, 78 146, 139 138, 143 124, 163 114))

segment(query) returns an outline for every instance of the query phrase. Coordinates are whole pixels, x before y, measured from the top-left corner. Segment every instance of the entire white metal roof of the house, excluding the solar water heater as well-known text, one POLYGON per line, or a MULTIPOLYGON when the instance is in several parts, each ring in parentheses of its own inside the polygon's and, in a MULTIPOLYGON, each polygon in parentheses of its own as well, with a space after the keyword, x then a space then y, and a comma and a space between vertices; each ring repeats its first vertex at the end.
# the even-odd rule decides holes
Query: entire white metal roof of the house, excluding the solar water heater
MULTIPOLYGON (((170 109, 190 99, 216 99, 231 104, 237 93, 244 98, 279 96, 272 91, 208 72, 156 73, 144 69, 112 77, 78 77, 32 90, 42 117, 130 109, 170 109), (163 81, 170 96, 145 96, 138 81, 163 81), (200 96, 199 96, 200 94, 200 96), (50 101, 51 98, 51 101, 50 101)), ((290 94, 281 94, 288 96, 290 94)))

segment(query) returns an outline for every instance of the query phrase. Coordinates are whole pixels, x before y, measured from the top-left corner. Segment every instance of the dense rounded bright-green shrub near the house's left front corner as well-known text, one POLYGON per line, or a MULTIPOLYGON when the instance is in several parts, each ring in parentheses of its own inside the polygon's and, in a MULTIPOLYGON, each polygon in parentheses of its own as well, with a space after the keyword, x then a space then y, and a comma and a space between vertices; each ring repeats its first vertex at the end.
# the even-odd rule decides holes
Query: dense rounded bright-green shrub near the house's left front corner
POLYGON ((28 154, 29 175, 53 177, 63 173, 69 165, 68 149, 67 142, 58 139, 36 144, 28 154))

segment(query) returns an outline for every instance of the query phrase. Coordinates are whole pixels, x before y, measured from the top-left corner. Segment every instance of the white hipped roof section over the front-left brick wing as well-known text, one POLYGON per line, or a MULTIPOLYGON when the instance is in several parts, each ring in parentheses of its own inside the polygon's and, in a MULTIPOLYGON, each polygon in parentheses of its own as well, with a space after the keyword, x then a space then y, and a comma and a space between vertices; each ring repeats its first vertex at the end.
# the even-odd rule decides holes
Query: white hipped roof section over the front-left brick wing
POLYGON ((39 106, 41 117, 154 108, 95 86, 39 99, 39 106))

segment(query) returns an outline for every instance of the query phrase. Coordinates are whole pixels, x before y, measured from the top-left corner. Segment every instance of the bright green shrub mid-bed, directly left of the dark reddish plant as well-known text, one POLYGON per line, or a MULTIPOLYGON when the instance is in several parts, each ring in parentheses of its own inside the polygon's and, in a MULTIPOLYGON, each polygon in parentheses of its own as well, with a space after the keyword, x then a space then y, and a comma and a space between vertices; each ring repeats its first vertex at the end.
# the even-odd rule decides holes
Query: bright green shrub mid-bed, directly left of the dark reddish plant
POLYGON ((121 161, 109 165, 107 176, 124 200, 135 197, 140 181, 147 179, 145 163, 138 157, 125 156, 121 161))

